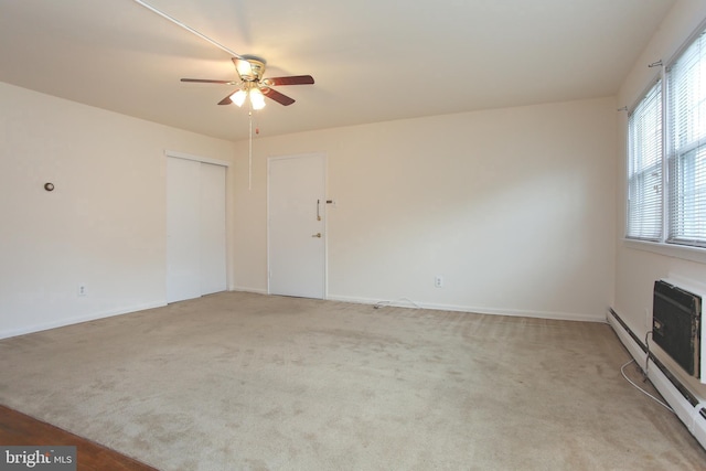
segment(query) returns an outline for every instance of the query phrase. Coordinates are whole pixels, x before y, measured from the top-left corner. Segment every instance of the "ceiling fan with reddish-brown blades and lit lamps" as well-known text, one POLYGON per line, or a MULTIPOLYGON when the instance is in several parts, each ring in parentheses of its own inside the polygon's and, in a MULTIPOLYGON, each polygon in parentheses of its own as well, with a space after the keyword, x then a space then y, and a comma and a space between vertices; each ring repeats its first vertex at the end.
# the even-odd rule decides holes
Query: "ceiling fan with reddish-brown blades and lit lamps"
POLYGON ((287 77, 263 78, 265 74, 266 62, 261 57, 255 55, 238 55, 232 57, 235 64, 235 71, 238 74, 238 81, 215 81, 208 78, 182 78, 181 82, 197 82, 206 84, 225 84, 237 85, 234 93, 228 94, 218 101, 218 105, 236 104, 243 106, 246 98, 250 98, 253 109, 261 109, 265 107, 265 97, 274 99, 284 106, 295 103, 295 99, 274 89, 279 85, 311 85, 313 77, 311 75, 292 75, 287 77))

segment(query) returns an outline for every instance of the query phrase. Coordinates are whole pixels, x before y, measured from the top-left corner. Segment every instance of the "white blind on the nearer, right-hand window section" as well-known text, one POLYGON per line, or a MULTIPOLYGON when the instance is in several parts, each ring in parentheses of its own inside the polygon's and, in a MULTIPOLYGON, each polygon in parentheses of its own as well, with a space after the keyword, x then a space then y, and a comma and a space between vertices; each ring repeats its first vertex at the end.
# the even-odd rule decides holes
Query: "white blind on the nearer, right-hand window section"
POLYGON ((666 242, 706 246, 706 36, 667 69, 666 242))

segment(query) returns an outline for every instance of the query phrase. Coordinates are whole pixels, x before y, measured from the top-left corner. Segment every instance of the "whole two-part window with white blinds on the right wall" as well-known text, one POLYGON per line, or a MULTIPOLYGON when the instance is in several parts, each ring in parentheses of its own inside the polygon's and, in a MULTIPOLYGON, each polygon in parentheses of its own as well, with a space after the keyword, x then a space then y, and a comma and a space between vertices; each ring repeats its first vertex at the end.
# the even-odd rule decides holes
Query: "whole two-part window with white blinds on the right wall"
POLYGON ((628 119, 625 236, 706 247, 705 33, 663 71, 628 119))

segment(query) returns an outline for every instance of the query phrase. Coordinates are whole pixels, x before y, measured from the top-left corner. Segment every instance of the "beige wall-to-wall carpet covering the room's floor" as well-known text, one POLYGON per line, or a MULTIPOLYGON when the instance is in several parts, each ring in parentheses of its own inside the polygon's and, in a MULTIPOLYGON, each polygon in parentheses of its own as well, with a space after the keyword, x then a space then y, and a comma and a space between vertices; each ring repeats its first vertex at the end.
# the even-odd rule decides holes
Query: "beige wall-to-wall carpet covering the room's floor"
POLYGON ((607 324, 228 292, 0 341, 0 403, 162 470, 705 469, 628 360, 607 324))

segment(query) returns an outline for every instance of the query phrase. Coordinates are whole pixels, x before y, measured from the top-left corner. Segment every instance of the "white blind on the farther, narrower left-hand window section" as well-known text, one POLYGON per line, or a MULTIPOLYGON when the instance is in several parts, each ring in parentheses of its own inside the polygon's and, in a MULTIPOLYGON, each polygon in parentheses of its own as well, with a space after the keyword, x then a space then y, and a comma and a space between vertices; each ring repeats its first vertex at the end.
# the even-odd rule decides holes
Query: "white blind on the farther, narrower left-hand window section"
POLYGON ((662 83, 657 82, 628 119, 627 237, 662 239, 662 83))

